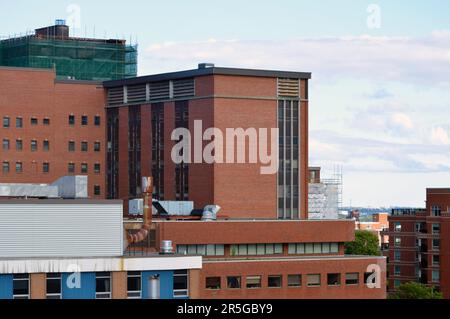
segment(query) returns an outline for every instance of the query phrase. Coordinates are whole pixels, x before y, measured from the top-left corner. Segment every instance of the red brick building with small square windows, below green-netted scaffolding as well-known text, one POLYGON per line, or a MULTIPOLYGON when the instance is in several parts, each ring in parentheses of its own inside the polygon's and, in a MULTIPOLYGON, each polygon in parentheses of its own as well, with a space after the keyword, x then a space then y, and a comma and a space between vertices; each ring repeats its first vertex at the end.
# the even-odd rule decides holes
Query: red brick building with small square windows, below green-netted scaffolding
POLYGON ((105 197, 101 83, 57 80, 53 70, 0 67, 0 183, 52 183, 89 175, 105 197))

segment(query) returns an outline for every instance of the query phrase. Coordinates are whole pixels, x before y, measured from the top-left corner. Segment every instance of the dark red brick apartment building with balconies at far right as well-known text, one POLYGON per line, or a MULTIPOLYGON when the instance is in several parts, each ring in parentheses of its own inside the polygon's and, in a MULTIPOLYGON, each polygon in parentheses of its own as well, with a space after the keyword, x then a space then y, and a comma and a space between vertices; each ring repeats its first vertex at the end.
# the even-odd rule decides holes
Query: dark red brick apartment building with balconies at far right
POLYGON ((427 189, 425 209, 394 209, 384 234, 390 291, 415 281, 450 298, 450 189, 427 189))

